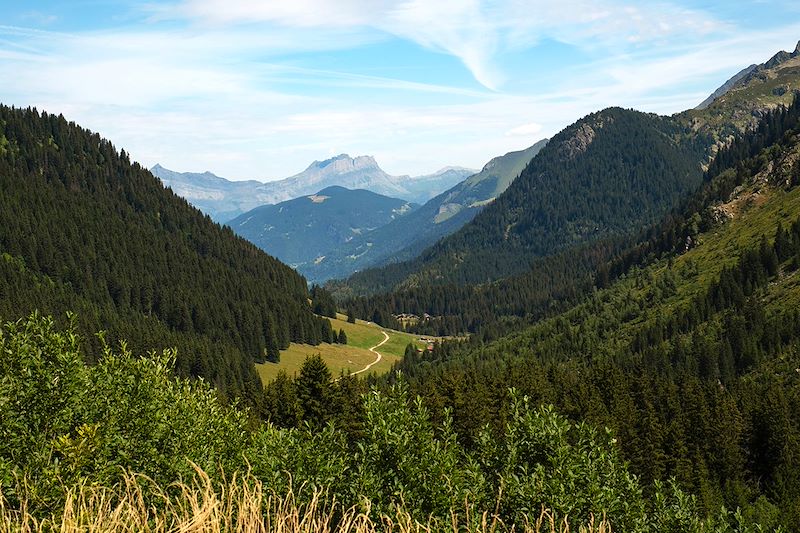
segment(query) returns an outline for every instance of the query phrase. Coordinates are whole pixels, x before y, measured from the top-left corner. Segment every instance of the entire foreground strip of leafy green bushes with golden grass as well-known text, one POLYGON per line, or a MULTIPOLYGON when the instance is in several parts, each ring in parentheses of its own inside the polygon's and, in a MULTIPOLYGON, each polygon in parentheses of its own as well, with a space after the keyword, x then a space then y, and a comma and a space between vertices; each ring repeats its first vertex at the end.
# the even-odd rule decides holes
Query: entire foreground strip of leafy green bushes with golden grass
POLYGON ((170 351, 137 358, 122 344, 91 367, 79 353, 50 319, 0 328, 0 488, 12 529, 536 530, 548 509, 554 524, 605 517, 597 530, 747 530, 726 512, 701 520, 674 486, 645 498, 608 432, 513 391, 505 431, 485 430, 467 450, 449 417, 435 427, 402 385, 367 394, 348 439, 330 424, 258 425, 204 382, 172 377, 170 351), (295 525, 276 527, 284 518, 295 525))

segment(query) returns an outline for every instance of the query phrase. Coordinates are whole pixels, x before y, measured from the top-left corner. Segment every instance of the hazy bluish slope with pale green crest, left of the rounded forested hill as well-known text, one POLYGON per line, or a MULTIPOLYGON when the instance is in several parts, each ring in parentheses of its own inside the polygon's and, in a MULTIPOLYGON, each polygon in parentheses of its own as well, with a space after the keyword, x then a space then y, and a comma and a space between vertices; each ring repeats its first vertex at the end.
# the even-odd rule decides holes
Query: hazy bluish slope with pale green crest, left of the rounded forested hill
POLYGON ((300 268, 309 280, 344 278, 368 267, 413 259, 457 231, 508 188, 547 141, 495 157, 477 174, 426 202, 419 209, 331 250, 300 268))

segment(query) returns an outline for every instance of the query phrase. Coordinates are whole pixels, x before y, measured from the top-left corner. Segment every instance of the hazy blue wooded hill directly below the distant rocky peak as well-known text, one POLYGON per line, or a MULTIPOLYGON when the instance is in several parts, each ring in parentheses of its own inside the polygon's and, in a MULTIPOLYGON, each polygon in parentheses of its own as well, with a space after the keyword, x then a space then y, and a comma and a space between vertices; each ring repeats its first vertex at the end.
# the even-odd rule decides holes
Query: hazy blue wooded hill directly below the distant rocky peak
POLYGON ((370 191, 332 186, 310 196, 257 207, 227 225, 305 274, 360 235, 409 216, 417 207, 370 191))

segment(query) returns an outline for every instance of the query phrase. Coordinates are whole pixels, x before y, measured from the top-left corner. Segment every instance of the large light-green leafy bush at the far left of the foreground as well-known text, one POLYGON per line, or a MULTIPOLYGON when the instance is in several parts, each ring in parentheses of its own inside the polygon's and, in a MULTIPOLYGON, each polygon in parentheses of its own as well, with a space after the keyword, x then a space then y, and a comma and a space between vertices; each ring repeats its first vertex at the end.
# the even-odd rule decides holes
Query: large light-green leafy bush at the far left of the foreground
POLYGON ((161 485, 233 470, 251 438, 245 411, 223 407, 203 381, 173 377, 175 353, 134 357, 120 344, 95 366, 79 339, 36 315, 0 329, 3 491, 48 507, 63 487, 112 486, 124 471, 161 485))

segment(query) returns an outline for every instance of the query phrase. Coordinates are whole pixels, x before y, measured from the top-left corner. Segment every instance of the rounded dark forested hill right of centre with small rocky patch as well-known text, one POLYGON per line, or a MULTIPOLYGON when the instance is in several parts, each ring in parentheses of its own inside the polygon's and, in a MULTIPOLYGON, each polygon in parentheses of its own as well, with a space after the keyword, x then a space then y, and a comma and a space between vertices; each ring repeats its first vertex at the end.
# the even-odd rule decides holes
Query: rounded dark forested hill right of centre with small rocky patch
POLYGON ((354 275, 346 290, 484 283, 569 247, 635 233, 700 184, 703 141, 669 117, 619 108, 588 115, 461 230, 412 261, 354 275))

